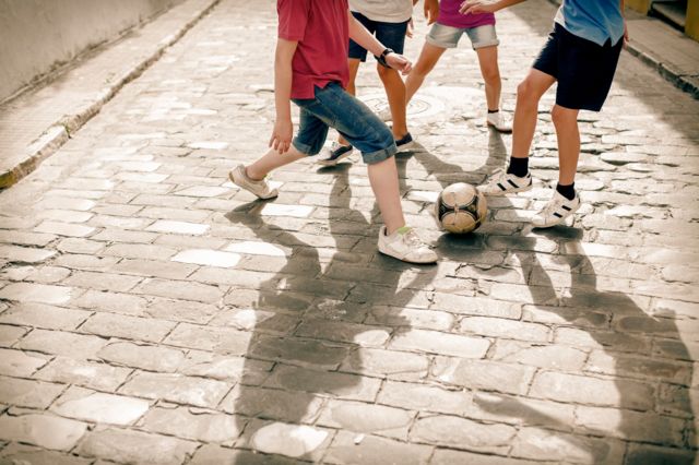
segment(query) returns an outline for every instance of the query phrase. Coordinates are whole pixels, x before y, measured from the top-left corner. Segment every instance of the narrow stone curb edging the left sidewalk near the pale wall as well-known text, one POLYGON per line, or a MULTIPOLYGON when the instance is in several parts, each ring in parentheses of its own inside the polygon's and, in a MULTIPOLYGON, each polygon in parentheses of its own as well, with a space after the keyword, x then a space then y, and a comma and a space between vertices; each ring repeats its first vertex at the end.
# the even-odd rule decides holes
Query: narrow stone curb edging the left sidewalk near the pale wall
MULTIPOLYGON (((7 189, 15 184, 20 179, 34 171, 42 162, 54 154, 70 139, 71 133, 78 131, 83 124, 90 121, 92 117, 97 115, 102 107, 111 100, 126 84, 139 78, 143 71, 157 61, 168 47, 176 44, 205 14, 218 4, 220 1, 221 0, 211 0, 206 7, 199 10, 192 19, 182 24, 176 33, 161 40, 161 43, 157 44, 157 48, 153 50, 153 53, 105 87, 90 105, 84 106, 74 115, 64 116, 44 131, 34 143, 27 146, 26 157, 19 165, 0 174, 0 189, 7 189)), ((155 21, 157 21, 157 19, 155 21)))

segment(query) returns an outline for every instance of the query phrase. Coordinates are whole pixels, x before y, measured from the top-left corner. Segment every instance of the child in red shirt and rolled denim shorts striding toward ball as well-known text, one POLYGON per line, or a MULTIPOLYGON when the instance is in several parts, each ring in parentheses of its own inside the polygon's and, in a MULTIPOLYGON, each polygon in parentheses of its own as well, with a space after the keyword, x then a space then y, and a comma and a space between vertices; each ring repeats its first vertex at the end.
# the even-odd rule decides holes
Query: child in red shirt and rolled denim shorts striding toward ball
POLYGON ((230 171, 230 180, 260 199, 277 195, 265 176, 320 152, 328 128, 356 146, 368 165, 369 182, 384 226, 379 251, 412 263, 434 263, 437 254, 405 225, 399 193, 398 151, 393 134, 364 104, 344 91, 348 80, 350 37, 386 65, 406 73, 411 62, 386 48, 350 12, 347 0, 277 0, 279 39, 274 60, 276 121, 270 151, 249 166, 230 171), (292 139, 291 102, 300 107, 292 139))

